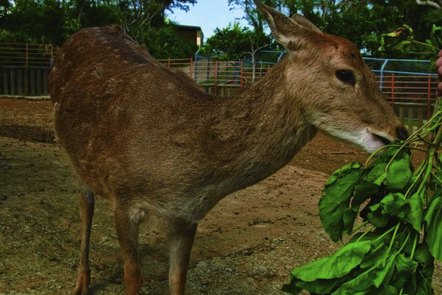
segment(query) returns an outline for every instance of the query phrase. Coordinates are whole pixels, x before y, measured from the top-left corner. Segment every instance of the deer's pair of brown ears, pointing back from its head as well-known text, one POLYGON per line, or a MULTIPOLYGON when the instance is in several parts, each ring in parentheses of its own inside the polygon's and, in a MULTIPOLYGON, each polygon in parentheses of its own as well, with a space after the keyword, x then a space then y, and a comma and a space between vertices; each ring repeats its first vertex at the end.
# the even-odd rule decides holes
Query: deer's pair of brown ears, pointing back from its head
POLYGON ((272 35, 276 42, 284 46, 287 50, 293 51, 298 48, 306 36, 314 32, 321 32, 310 21, 299 14, 292 18, 285 16, 279 11, 262 4, 258 0, 253 0, 256 7, 262 12, 264 19, 272 30, 272 35))

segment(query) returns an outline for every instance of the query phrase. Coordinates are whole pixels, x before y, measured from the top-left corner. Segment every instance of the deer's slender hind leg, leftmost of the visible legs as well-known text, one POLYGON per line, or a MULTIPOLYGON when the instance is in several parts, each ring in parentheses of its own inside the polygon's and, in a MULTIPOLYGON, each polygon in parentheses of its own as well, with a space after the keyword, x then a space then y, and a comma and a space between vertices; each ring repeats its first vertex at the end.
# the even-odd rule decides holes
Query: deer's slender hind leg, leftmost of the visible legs
POLYGON ((82 246, 80 254, 80 267, 78 269, 77 284, 74 295, 86 295, 90 284, 89 266, 89 241, 92 227, 92 217, 94 216, 94 193, 83 187, 80 196, 80 215, 82 218, 82 246))

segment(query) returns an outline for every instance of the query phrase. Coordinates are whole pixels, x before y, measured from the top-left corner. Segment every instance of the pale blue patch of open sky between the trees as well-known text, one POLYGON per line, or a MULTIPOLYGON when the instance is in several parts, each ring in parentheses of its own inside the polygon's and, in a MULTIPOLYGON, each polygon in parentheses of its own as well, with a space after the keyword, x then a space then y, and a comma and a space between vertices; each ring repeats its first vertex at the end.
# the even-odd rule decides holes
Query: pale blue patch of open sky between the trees
MULTIPOLYGON (((229 10, 231 7, 227 5, 227 0, 198 0, 195 5, 190 5, 189 12, 175 10, 167 17, 180 25, 201 27, 206 40, 217 27, 225 28, 229 22, 233 23, 235 19, 243 17, 241 8, 229 10)), ((241 24, 247 26, 244 20, 241 24)))

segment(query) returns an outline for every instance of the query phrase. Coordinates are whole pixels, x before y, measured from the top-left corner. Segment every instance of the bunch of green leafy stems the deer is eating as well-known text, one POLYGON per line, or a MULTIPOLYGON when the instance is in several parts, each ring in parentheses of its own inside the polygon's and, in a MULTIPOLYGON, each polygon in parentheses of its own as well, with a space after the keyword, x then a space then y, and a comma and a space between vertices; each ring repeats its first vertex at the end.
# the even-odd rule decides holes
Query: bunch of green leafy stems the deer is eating
MULTIPOLYGON (((441 30, 433 28, 435 39, 441 30)), ((383 45, 388 43, 389 48, 406 50, 413 39, 409 27, 391 34, 384 35, 383 45)), ((435 42, 440 46, 442 39, 435 42)), ((406 141, 380 148, 365 165, 353 163, 334 172, 319 202, 321 221, 333 241, 353 236, 330 257, 293 269, 282 290, 291 294, 307 290, 312 295, 433 295, 434 259, 442 261, 441 141, 440 106, 406 141), (415 169, 416 150, 425 157, 415 169), (378 157, 372 161, 374 155, 378 157), (358 213, 362 223, 354 229, 358 213)))

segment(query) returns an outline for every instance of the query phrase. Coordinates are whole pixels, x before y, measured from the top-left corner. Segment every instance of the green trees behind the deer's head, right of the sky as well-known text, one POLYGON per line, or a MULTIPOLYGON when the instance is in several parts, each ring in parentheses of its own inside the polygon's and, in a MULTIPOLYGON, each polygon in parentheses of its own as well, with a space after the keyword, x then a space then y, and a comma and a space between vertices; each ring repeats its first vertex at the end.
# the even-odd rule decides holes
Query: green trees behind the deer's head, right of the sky
MULTIPOLYGON (((428 59, 428 52, 412 55, 387 55, 378 51, 381 33, 393 31, 403 23, 415 28, 417 40, 430 38, 433 24, 442 23, 442 13, 430 7, 418 5, 414 0, 262 0, 285 14, 303 14, 319 29, 353 41, 365 55, 376 58, 428 59), (351 24, 351 26, 349 26, 351 24)), ((265 32, 266 24, 252 0, 228 0, 232 7, 241 7, 244 17, 256 32, 265 32)))

